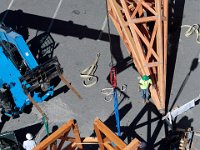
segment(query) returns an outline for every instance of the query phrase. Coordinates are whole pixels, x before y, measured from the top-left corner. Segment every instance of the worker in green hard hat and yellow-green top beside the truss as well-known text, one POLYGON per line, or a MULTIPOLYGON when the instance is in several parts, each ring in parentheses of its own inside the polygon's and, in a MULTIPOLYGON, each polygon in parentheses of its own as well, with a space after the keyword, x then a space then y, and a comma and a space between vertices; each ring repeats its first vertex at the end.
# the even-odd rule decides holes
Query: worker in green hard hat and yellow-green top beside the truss
POLYGON ((147 76, 144 75, 142 78, 139 80, 139 91, 141 93, 141 96, 144 100, 144 103, 149 102, 149 87, 152 85, 152 80, 147 76))

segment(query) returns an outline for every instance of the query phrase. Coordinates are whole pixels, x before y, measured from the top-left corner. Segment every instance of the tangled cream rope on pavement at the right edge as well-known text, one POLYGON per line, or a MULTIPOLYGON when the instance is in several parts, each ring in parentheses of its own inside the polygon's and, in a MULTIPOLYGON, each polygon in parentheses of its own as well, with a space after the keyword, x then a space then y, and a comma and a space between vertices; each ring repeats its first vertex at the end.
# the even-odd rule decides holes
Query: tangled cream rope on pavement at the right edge
POLYGON ((181 27, 188 28, 185 32, 185 36, 189 37, 193 33, 196 33, 196 42, 200 44, 200 25, 199 24, 193 24, 193 25, 182 25, 181 27))

